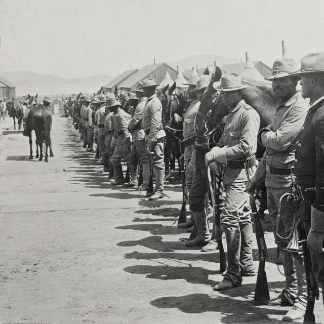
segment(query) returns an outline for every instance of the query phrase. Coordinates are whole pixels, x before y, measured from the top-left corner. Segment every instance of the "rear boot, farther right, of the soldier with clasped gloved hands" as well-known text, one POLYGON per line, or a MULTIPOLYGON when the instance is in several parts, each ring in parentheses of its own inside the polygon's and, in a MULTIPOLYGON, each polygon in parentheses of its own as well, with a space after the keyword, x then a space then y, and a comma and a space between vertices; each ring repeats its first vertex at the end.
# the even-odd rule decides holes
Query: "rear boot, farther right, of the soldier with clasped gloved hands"
POLYGON ((252 242, 253 242, 253 229, 251 222, 239 224, 241 232, 241 250, 239 256, 239 264, 241 275, 250 277, 257 274, 253 261, 252 242))

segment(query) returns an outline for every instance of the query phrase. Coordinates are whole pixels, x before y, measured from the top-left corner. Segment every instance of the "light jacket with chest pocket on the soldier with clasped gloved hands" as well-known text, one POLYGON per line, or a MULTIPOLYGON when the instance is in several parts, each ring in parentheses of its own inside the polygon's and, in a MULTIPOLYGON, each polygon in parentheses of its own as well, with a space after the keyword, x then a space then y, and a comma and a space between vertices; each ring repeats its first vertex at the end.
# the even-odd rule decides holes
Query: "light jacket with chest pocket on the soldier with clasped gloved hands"
MULTIPOLYGON (((224 133, 217 144, 220 147, 217 162, 226 165, 231 160, 254 155, 259 127, 259 114, 244 100, 231 108, 225 120, 224 133)), ((224 184, 246 179, 244 169, 225 168, 224 184)))

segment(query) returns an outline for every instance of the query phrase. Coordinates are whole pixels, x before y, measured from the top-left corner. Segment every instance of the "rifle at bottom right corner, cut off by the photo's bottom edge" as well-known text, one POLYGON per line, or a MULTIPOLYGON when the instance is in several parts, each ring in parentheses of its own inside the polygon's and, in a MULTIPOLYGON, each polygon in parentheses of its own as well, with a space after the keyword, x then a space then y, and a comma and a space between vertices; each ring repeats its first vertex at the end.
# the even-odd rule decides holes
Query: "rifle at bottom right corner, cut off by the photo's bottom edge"
POLYGON ((307 305, 304 315, 304 323, 315 323, 314 315, 314 304, 315 298, 318 299, 319 292, 317 287, 316 278, 312 272, 312 262, 310 259, 310 253, 307 247, 307 234, 303 224, 299 225, 300 239, 303 247, 304 255, 304 265, 305 265, 305 275, 306 275, 306 284, 307 284, 307 305))

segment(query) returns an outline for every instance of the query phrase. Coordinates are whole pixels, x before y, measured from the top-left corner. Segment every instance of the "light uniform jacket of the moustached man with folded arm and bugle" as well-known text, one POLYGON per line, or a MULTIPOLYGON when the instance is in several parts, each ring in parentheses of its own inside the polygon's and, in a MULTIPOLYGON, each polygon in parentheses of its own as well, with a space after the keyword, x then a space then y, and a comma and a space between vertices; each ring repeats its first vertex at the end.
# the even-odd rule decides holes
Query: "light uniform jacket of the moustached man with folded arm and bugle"
POLYGON ((260 130, 258 141, 266 147, 255 178, 272 188, 289 187, 290 175, 275 175, 266 172, 267 167, 291 169, 295 166, 295 151, 299 145, 300 131, 309 109, 309 104, 297 92, 287 102, 279 103, 272 124, 260 130))

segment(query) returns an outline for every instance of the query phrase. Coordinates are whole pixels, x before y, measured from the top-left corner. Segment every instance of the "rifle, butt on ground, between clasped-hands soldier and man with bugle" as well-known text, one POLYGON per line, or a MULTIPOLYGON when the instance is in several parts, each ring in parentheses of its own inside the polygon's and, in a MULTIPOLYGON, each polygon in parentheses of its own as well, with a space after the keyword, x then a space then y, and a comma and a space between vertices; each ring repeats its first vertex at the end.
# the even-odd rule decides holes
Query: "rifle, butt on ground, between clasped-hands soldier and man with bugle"
MULTIPOLYGON (((246 164, 244 164, 244 168, 247 174, 248 184, 250 184, 250 175, 246 164)), ((252 210, 255 236, 257 239, 257 245, 259 251, 259 268, 258 268, 257 282, 255 285, 254 301, 257 304, 260 304, 270 299, 267 274, 264 269, 265 260, 268 259, 268 251, 264 239, 264 232, 261 225, 260 216, 253 195, 250 195, 250 206, 252 210)))

